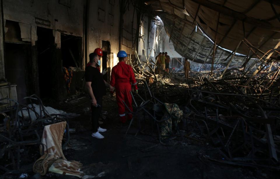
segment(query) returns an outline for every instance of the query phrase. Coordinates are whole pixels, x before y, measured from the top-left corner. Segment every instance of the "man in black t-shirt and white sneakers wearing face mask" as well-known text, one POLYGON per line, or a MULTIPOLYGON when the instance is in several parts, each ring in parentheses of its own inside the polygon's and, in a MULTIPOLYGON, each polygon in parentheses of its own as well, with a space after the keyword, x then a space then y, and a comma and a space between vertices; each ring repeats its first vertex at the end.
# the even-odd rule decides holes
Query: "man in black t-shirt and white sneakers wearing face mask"
POLYGON ((91 98, 91 124, 92 124, 92 137, 103 139, 104 136, 99 132, 105 132, 106 129, 99 127, 99 116, 102 111, 102 97, 106 94, 106 86, 113 90, 113 87, 103 80, 102 74, 97 69, 100 66, 100 59, 96 53, 91 53, 90 66, 85 68, 85 81, 88 88, 88 93, 91 98))

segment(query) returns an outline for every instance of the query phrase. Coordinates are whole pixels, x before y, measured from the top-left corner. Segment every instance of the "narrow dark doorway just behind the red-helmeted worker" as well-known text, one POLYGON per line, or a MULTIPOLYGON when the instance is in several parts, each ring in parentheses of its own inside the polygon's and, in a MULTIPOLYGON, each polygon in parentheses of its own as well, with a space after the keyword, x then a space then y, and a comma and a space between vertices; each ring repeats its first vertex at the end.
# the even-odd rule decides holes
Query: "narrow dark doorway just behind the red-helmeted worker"
POLYGON ((103 79, 108 81, 110 79, 110 61, 111 61, 111 45, 109 41, 102 40, 102 70, 107 69, 107 73, 103 75, 103 79))

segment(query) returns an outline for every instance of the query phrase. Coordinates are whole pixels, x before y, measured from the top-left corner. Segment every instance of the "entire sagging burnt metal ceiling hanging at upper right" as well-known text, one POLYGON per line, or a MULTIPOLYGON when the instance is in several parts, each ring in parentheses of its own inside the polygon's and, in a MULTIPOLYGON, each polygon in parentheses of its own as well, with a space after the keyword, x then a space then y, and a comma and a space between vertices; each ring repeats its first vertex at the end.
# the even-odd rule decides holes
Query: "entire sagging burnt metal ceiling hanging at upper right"
MULTIPOLYGON (((196 25, 213 41, 216 38, 217 45, 231 51, 246 38, 262 56, 262 52, 273 49, 280 41, 280 1, 277 0, 157 0, 146 3, 164 22, 176 52, 198 63, 211 63, 214 45, 201 31, 195 31, 196 25)), ((247 55, 248 46, 241 43, 237 52, 247 55)), ((214 63, 226 64, 228 55, 230 52, 217 48, 214 63)), ((252 51, 249 55, 255 56, 252 51)), ((245 59, 236 56, 231 65, 245 59)))

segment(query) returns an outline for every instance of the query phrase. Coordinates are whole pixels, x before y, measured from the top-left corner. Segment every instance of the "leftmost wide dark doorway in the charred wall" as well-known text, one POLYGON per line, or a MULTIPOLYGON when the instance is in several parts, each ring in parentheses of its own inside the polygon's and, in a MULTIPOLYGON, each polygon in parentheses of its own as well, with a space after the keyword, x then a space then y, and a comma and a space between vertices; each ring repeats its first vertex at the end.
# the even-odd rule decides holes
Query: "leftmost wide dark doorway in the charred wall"
POLYGON ((17 100, 22 100, 28 94, 29 61, 31 60, 31 44, 5 43, 6 78, 11 84, 16 84, 17 100))

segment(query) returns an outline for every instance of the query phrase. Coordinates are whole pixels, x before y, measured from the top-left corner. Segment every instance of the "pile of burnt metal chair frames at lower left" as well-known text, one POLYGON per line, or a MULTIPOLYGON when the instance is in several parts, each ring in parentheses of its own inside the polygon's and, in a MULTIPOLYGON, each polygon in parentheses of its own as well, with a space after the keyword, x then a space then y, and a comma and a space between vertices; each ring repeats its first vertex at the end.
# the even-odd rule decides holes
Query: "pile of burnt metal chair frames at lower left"
POLYGON ((36 95, 24 99, 27 104, 19 104, 9 98, 0 99, 0 174, 3 173, 0 178, 4 178, 9 173, 32 171, 32 167, 21 169, 21 162, 24 161, 24 157, 28 157, 21 153, 25 153, 28 146, 36 145, 36 149, 38 146, 42 147, 41 155, 43 155, 44 146, 41 143, 41 136, 44 126, 66 121, 63 148, 70 138, 66 116, 48 114, 41 99, 36 95))

